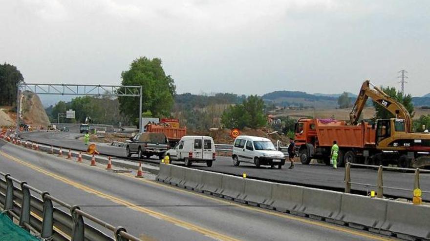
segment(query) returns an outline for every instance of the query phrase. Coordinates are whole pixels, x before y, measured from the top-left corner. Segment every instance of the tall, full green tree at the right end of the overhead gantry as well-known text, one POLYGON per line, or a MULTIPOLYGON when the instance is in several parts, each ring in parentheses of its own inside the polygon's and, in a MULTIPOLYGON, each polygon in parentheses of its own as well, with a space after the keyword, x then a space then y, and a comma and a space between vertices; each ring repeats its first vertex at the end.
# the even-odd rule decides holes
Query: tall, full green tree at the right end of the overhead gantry
MULTIPOLYGON (((130 69, 121 74, 122 85, 141 85, 142 110, 151 111, 152 117, 170 116, 173 106, 173 94, 176 91, 174 81, 166 75, 161 66, 161 59, 140 57, 130 65, 130 69)), ((139 117, 139 97, 119 97, 120 111, 131 120, 139 117)))

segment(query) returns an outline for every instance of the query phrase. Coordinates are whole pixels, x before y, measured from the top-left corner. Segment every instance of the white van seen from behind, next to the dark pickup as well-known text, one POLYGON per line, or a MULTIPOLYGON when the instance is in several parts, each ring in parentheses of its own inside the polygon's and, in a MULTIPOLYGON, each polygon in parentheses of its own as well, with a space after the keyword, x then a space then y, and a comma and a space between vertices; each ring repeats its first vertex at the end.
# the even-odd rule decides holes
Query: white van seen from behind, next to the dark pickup
POLYGON ((171 161, 184 161, 186 167, 202 162, 212 167, 212 162, 215 161, 214 139, 210 136, 186 135, 166 155, 171 161))

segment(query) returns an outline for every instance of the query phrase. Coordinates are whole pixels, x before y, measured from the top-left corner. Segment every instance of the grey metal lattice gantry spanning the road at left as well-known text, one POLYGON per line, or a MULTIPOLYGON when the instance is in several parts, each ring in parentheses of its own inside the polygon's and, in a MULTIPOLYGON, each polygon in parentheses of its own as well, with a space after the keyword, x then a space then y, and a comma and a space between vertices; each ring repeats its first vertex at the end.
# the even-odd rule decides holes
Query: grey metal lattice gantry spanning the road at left
MULTIPOLYGON (((41 84, 19 83, 17 93, 17 133, 20 129, 21 92, 30 91, 36 94, 87 95, 87 96, 128 96, 139 97, 139 120, 142 119, 142 86, 141 85, 78 85, 78 84, 41 84)), ((139 121, 139 130, 143 127, 139 121)))

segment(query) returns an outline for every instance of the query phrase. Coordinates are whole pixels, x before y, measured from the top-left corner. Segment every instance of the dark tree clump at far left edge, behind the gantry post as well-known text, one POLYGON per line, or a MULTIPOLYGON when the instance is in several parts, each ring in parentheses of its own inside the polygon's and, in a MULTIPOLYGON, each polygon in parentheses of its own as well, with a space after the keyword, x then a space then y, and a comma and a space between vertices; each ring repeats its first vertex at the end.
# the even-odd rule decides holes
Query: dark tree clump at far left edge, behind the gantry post
POLYGON ((0 64, 0 105, 11 106, 17 100, 17 85, 24 81, 17 67, 10 64, 0 64))

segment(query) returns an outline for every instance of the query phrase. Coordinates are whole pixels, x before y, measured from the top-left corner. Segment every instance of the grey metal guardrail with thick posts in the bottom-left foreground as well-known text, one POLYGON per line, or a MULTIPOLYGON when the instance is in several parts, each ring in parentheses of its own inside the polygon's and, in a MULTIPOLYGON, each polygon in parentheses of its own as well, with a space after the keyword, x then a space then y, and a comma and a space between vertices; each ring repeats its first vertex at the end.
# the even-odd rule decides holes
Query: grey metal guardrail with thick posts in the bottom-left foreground
POLYGON ((19 225, 25 230, 39 234, 42 240, 141 241, 129 234, 124 227, 115 227, 86 213, 77 205, 67 204, 48 192, 2 172, 0 172, 0 204, 11 219, 18 220, 19 225), (4 180, 1 177, 4 177, 4 180), (68 209, 70 214, 54 207, 53 203, 68 209), (84 218, 111 231, 114 239, 84 222, 84 218))

